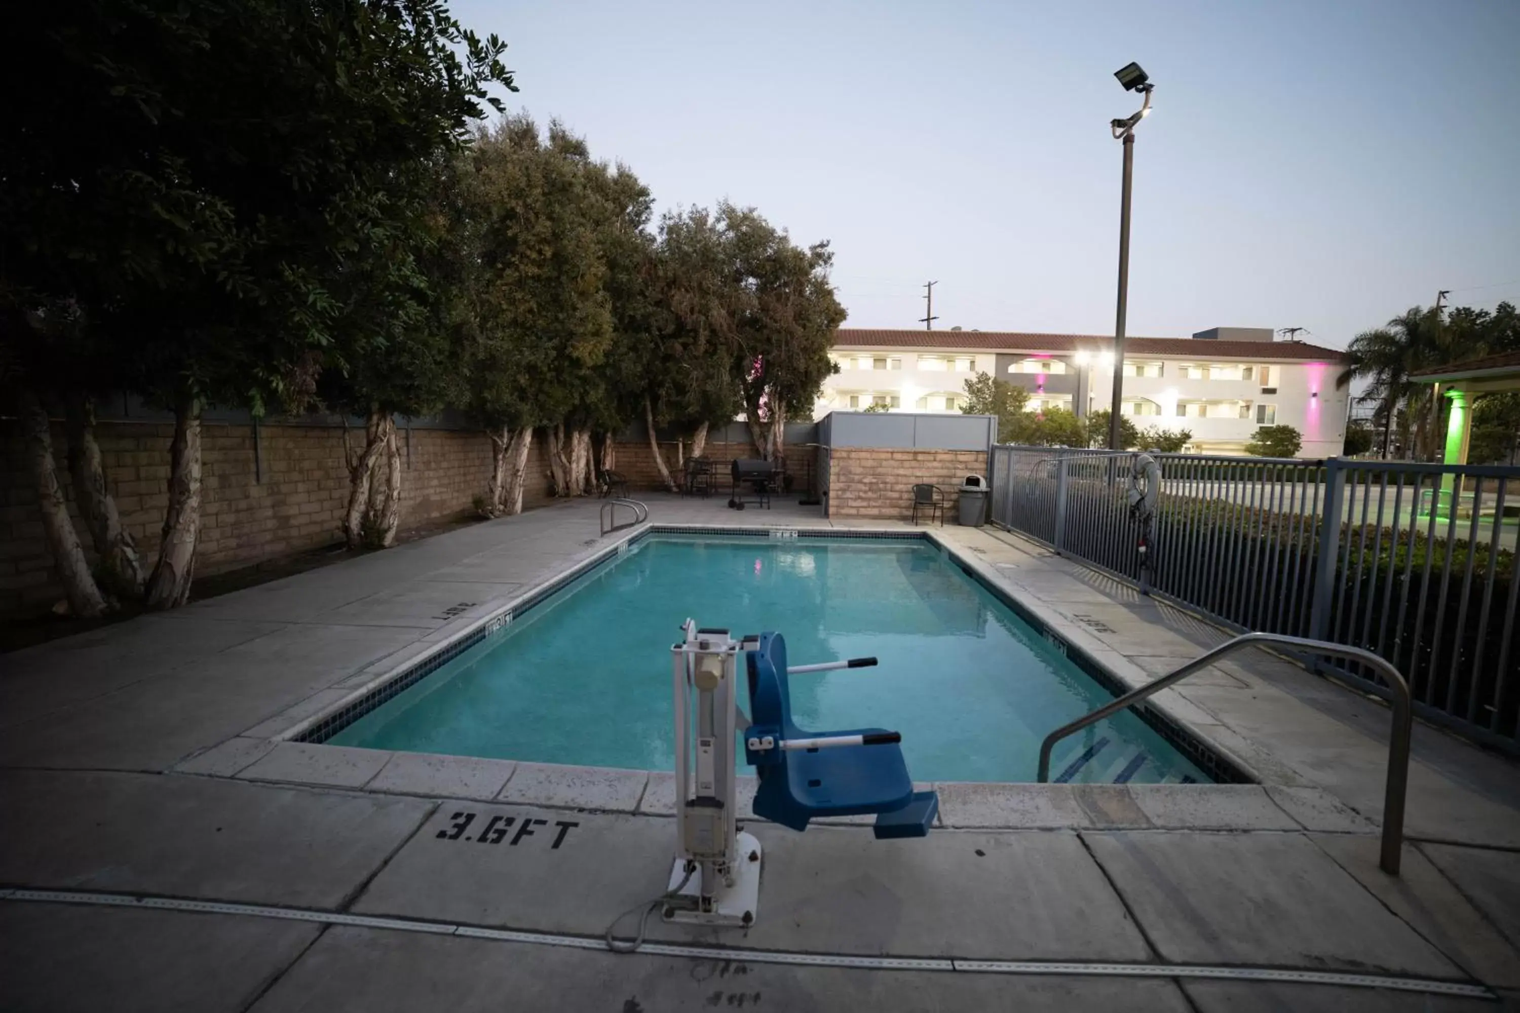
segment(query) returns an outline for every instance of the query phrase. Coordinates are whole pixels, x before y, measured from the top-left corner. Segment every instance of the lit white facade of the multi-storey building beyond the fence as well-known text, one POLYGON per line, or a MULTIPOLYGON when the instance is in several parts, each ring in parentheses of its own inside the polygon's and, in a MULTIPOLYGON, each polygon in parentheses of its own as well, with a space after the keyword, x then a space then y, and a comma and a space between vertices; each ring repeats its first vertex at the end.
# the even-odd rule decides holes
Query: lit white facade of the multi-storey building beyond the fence
MULTIPOLYGON (((1193 337, 1125 340, 1123 415, 1137 428, 1187 430, 1187 450, 1239 454, 1263 425, 1292 425, 1301 457, 1332 457, 1345 440, 1344 352, 1277 342, 1269 328, 1214 328, 1193 337)), ((959 412, 965 381, 991 374, 1029 392, 1028 409, 1085 416, 1110 407, 1113 337, 1011 331, 841 328, 815 406, 828 412, 959 412)))

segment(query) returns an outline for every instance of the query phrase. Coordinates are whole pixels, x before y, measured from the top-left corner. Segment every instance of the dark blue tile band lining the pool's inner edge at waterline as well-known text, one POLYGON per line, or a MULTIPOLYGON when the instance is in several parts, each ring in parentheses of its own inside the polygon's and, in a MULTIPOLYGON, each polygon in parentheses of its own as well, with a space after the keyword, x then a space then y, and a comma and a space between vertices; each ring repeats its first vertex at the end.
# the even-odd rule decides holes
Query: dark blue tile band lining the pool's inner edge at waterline
MULTIPOLYGON (((1072 642, 1061 630, 1041 618, 1037 612, 1018 601, 1012 594, 1002 588, 997 580, 983 573, 982 563, 973 559, 967 559, 959 547, 939 538, 933 530, 879 530, 879 529, 816 529, 816 527, 716 527, 708 524, 646 524, 644 527, 635 529, 628 536, 606 545, 605 548, 593 553, 591 556, 572 565, 564 573, 559 573, 540 585, 535 585, 529 591, 523 592, 520 597, 508 601, 500 609, 496 609, 489 615, 479 620, 474 626, 467 627, 456 633, 454 636, 444 641, 436 650, 424 655, 421 659, 409 659, 400 665, 377 674, 374 679, 362 686, 357 686, 348 699, 340 702, 336 708, 325 709, 313 717, 304 718, 293 727, 287 729, 278 740, 307 743, 307 744, 324 744, 331 740, 337 732, 348 727, 359 718, 365 717, 371 711, 383 706, 391 699, 400 693, 406 693, 418 682, 427 676, 438 671, 441 667, 447 665, 450 661, 458 658, 467 650, 483 642, 492 633, 499 632, 505 626, 511 624, 514 620, 523 617, 535 606, 541 604, 550 595, 559 592, 570 583, 575 583, 581 577, 591 574, 594 570, 617 560, 620 556, 626 554, 628 550, 641 542, 643 539, 655 535, 690 535, 690 536, 720 536, 720 538, 752 538, 763 541, 784 541, 789 538, 796 539, 841 539, 841 541, 876 541, 876 542, 927 542, 944 553, 952 562, 955 562, 961 573, 974 580, 977 586, 997 598, 1005 607, 1008 607, 1021 621, 1031 626, 1037 633, 1046 638, 1058 652, 1066 655, 1078 668, 1082 670, 1090 679, 1097 682, 1100 686, 1108 690, 1114 696, 1122 696, 1128 693, 1132 686, 1113 673, 1108 667, 1099 662, 1096 658, 1088 655, 1085 649, 1079 644, 1072 642)), ((1216 746, 1207 743, 1205 737, 1186 727, 1181 721, 1172 718, 1164 712, 1163 706, 1146 703, 1134 708, 1134 714, 1145 721, 1154 732, 1167 741, 1169 746, 1181 752, 1192 761, 1196 767, 1204 770, 1214 784, 1257 784, 1256 778, 1245 764, 1224 755, 1224 752, 1216 746)))

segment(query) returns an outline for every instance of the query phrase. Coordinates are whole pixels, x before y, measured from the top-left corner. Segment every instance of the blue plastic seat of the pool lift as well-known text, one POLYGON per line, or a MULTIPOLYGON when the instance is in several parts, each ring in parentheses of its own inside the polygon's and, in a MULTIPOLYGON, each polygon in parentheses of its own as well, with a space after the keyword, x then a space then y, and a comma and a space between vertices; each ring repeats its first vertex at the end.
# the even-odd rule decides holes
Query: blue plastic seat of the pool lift
POLYGON ((746 652, 752 724, 745 732, 745 758, 760 775, 754 813, 758 817, 807 829, 822 816, 876 814, 876 837, 924 837, 939 811, 933 791, 914 791, 895 732, 880 727, 842 732, 804 732, 792 723, 787 691, 786 639, 762 633, 746 652), (831 749, 783 749, 784 740, 863 735, 889 738, 885 744, 831 749), (751 740, 769 737, 774 749, 755 750, 751 740))

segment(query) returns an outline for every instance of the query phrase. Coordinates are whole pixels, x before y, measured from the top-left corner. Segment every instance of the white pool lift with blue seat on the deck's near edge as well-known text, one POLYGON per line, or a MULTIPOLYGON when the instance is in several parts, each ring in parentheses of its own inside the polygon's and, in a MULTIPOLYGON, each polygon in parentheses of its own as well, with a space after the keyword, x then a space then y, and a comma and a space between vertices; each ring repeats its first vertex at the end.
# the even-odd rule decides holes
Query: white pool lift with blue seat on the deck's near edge
POLYGON ((914 791, 898 732, 813 734, 792 723, 789 676, 866 668, 876 658, 787 667, 780 633, 734 639, 728 630, 698 629, 693 620, 681 632, 670 649, 676 858, 658 902, 667 922, 748 928, 755 920, 762 850, 754 834, 737 825, 737 732, 745 737, 745 759, 760 776, 757 817, 803 831, 818 817, 876 814, 877 838, 929 834, 939 797, 914 791), (752 721, 737 703, 740 664, 752 721))

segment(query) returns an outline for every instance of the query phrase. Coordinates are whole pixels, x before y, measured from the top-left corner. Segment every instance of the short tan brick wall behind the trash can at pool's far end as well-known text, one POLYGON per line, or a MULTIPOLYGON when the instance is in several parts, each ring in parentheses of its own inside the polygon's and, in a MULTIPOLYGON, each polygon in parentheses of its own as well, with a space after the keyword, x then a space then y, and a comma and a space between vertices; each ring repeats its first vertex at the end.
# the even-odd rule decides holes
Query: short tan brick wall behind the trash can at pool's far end
POLYGON ((986 453, 974 450, 866 450, 836 447, 828 465, 828 516, 906 521, 914 486, 945 489, 945 515, 955 522, 955 489, 967 475, 986 474, 986 453))

